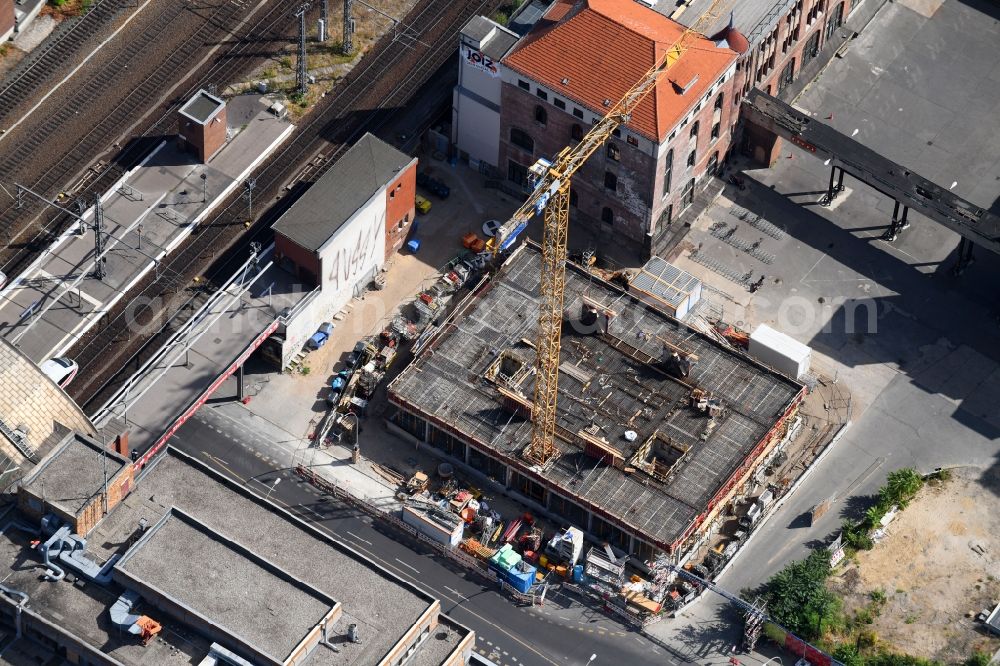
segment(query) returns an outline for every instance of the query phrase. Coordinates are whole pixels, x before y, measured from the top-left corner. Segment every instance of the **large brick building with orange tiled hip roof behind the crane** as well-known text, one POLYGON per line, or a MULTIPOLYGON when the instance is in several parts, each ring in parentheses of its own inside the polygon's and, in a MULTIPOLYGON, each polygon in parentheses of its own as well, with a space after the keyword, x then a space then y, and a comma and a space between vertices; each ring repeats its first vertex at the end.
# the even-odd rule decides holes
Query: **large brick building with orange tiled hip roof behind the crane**
MULTIPOLYGON (((502 61, 502 175, 524 184, 535 160, 579 141, 683 29, 632 0, 557 0, 502 61)), ((723 30, 689 44, 574 178, 575 245, 614 242, 655 254, 725 159, 738 113, 738 50, 746 40, 723 30)))

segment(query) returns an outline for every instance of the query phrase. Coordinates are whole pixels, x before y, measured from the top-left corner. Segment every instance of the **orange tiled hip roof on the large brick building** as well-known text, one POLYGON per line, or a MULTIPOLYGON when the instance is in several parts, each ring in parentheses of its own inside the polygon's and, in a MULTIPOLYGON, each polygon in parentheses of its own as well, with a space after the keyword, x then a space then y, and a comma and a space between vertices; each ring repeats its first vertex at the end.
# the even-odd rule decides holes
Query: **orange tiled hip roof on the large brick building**
MULTIPOLYGON (((556 0, 502 62, 601 113, 604 100, 620 99, 683 31, 680 24, 634 0, 556 0)), ((636 108, 629 129, 663 141, 737 57, 702 36, 689 38, 688 45, 636 108)))

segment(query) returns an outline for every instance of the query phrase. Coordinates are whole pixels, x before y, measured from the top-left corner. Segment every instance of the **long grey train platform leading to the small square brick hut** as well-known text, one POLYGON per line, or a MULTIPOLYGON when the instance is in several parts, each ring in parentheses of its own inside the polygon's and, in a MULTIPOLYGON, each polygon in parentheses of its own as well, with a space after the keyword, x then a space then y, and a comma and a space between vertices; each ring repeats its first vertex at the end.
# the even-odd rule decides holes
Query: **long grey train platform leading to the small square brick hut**
POLYGON ((249 118, 239 116, 230 120, 231 138, 207 164, 171 138, 127 172, 101 197, 103 277, 95 271, 91 206, 82 222, 0 292, 0 335, 35 362, 61 356, 147 274, 161 270, 163 258, 294 129, 263 102, 249 118))

